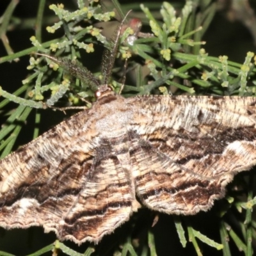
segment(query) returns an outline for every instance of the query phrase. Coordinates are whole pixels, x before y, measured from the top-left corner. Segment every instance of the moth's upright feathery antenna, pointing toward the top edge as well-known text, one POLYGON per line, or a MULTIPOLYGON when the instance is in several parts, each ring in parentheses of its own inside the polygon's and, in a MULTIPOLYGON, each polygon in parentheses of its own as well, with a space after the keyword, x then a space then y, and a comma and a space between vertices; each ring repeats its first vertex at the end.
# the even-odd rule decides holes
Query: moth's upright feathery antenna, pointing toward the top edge
POLYGON ((106 48, 103 52, 102 63, 101 63, 101 71, 103 75, 102 84, 108 84, 109 82, 109 77, 115 63, 116 52, 118 49, 118 41, 121 35, 122 26, 124 24, 126 17, 129 15, 130 12, 131 10, 127 12, 121 24, 118 26, 114 35, 112 36, 110 40, 110 45, 111 45, 110 49, 106 48))

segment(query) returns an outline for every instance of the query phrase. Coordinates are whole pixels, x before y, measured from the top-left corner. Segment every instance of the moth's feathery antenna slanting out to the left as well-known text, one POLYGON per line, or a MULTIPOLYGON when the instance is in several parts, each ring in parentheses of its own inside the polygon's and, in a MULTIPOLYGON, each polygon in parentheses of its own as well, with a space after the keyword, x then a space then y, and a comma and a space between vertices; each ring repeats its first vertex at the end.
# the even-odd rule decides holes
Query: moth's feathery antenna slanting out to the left
POLYGON ((92 89, 97 89, 100 86, 99 81, 93 76, 92 72, 86 67, 83 67, 77 61, 71 61, 67 58, 58 58, 44 53, 37 53, 37 55, 45 56, 58 64, 61 68, 66 70, 70 75, 78 78, 84 84, 90 86, 92 89), (95 88, 97 87, 97 88, 95 88))

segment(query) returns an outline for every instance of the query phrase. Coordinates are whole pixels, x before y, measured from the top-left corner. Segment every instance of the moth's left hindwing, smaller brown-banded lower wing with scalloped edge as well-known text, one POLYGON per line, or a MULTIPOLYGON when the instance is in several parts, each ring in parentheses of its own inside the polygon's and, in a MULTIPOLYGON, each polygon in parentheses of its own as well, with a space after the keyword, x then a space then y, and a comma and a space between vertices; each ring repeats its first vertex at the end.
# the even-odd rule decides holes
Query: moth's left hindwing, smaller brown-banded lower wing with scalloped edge
MULTIPOLYGON (((106 148, 103 146, 100 150, 106 148)), ((71 198, 72 207, 57 229, 59 237, 72 239, 76 243, 97 242, 127 221, 132 211, 136 211, 127 170, 115 153, 111 150, 105 152, 96 154, 92 168, 84 177, 83 190, 71 198)))

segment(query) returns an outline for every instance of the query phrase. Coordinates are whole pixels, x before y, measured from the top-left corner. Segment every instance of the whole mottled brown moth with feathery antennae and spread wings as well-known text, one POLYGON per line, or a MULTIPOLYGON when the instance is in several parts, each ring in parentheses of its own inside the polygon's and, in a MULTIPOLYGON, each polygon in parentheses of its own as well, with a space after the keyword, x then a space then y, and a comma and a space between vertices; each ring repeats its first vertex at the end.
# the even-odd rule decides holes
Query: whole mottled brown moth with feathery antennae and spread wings
POLYGON ((98 243, 140 205, 166 214, 207 211, 238 172, 256 164, 256 99, 145 95, 108 86, 122 24, 103 58, 97 101, 0 161, 0 225, 42 226, 98 243))

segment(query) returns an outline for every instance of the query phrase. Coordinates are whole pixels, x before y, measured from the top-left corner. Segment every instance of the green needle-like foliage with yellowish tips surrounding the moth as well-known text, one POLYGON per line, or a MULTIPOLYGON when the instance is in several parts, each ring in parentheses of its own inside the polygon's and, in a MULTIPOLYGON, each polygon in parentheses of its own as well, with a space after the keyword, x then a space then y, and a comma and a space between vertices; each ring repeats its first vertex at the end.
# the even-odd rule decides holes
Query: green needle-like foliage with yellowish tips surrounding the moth
MULTIPOLYGON (((56 17, 58 19, 54 24, 49 24, 46 30, 54 34, 63 29, 64 35, 42 42, 42 27, 47 22, 45 20, 47 17, 44 17, 43 13, 47 6, 45 7, 44 0, 40 0, 35 18, 35 36, 30 38, 33 46, 13 53, 6 38, 6 31, 10 26, 15 26, 13 11, 16 5, 17 1, 11 1, 2 16, 0 35, 8 54, 0 58, 0 63, 15 61, 17 58, 36 52, 54 53, 56 56, 81 63, 84 54, 92 54, 95 51, 95 45, 110 47, 109 40, 100 33, 100 27, 103 25, 96 25, 99 25, 99 22, 108 23, 109 20, 113 20, 116 15, 113 8, 110 12, 106 12, 102 10, 102 6, 97 1, 90 1, 85 5, 84 1, 77 0, 77 10, 67 10, 63 4, 51 4, 49 8, 54 12, 54 19, 56 20, 56 17)), ((120 6, 117 1, 113 1, 113 5, 116 10, 123 10, 124 13, 127 13, 130 8, 136 10, 137 17, 143 19, 151 34, 138 38, 133 44, 128 44, 127 38, 135 31, 128 28, 122 35, 119 52, 120 55, 127 58, 128 69, 134 71, 132 76, 136 81, 134 84, 125 84, 124 90, 122 90, 124 97, 149 93, 255 95, 256 69, 255 63, 252 63, 254 56, 252 52, 248 52, 244 63, 240 64, 228 61, 227 56, 220 56, 220 58, 209 56, 202 48, 202 45, 205 44, 202 41, 202 36, 216 11, 214 3, 203 6, 200 1, 186 1, 179 12, 167 2, 161 6, 157 4, 158 9, 151 5, 151 7, 155 7, 155 10, 157 9, 157 15, 156 12, 150 11, 147 4, 134 3, 120 6), (197 11, 198 9, 200 12, 197 11)), ((131 13, 131 17, 134 14, 131 13)), ((120 12, 120 17, 121 19, 124 17, 122 12, 120 12)), ((92 87, 81 83, 81 81, 72 80, 72 77, 67 76, 63 69, 51 60, 45 60, 44 56, 32 55, 29 62, 28 76, 14 93, 0 88, 0 95, 5 98, 0 102, 0 109, 3 109, 2 113, 8 116, 0 131, 1 157, 12 151, 19 132, 24 126, 22 124, 32 113, 31 108, 81 106, 84 104, 81 97, 88 102, 86 106, 90 107, 90 102, 94 100, 92 87), (4 109, 11 101, 19 106, 13 111, 5 113, 4 109), (17 120, 19 122, 16 122, 17 120)), ((120 76, 122 65, 113 69, 113 77, 122 77, 120 76)), ((95 73, 95 76, 100 77, 100 74, 95 73)), ((120 91, 120 83, 113 81, 112 86, 116 92, 120 91)), ((40 113, 36 113, 36 123, 40 123, 40 113)), ((35 125, 34 138, 37 134, 38 128, 35 125)), ((243 195, 243 192, 246 191, 246 185, 243 185, 242 188, 239 195, 243 195)), ((232 200, 225 202, 225 207, 214 210, 216 218, 220 218, 218 241, 214 241, 200 230, 193 228, 189 223, 189 218, 173 217, 182 247, 185 248, 188 243, 192 243, 196 254, 202 255, 200 248, 201 242, 203 242, 216 250, 222 250, 223 255, 231 255, 229 241, 233 241, 237 248, 244 252, 244 255, 252 255, 252 239, 255 237, 256 227, 252 218, 252 207, 256 202, 252 196, 252 188, 253 184, 249 182, 247 202, 239 202, 237 195, 234 195, 232 200), (228 213, 230 207, 236 214, 239 214, 237 223, 242 235, 238 234, 226 221, 227 216, 236 218, 234 213, 228 213)), ((136 217, 132 217, 130 223, 136 223, 136 217)), ((124 241, 122 239, 118 242, 111 241, 112 244, 109 246, 108 252, 102 250, 100 244, 99 246, 91 244, 83 255, 91 255, 93 252, 97 255, 110 252, 115 252, 115 255, 157 255, 153 229, 148 227, 147 236, 141 240, 142 242, 136 242, 128 232, 124 241)), ((62 251, 67 255, 82 255, 59 241, 38 250, 33 255, 42 255, 42 253, 52 250, 56 254, 62 251)), ((0 252, 0 255, 10 254, 0 252)))

